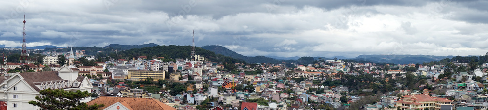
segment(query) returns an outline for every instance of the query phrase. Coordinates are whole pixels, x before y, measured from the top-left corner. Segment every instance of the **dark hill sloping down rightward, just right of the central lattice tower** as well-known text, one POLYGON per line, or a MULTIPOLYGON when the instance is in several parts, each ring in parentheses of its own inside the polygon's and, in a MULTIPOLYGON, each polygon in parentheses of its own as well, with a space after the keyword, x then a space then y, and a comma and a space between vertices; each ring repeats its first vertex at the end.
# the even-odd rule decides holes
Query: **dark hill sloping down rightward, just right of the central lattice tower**
MULTIPOLYGON (((235 51, 232 51, 226 47, 222 46, 216 46, 216 45, 211 45, 211 46, 203 46, 201 47, 203 49, 213 51, 215 54, 221 54, 224 56, 229 56, 235 59, 241 59, 244 60, 246 63, 281 63, 282 61, 276 60, 273 58, 269 58, 266 56, 255 56, 255 57, 248 57, 241 55, 235 51)), ((198 53, 197 53, 198 54, 198 53)))

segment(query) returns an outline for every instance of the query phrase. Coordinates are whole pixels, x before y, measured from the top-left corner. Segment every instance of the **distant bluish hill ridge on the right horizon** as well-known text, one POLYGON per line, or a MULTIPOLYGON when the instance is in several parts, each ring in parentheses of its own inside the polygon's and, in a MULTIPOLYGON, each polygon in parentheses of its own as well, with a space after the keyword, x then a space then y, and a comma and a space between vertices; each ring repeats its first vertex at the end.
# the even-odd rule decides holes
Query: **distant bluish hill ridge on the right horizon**
MULTIPOLYGON (((353 59, 362 59, 372 62, 385 62, 394 64, 424 63, 430 61, 440 61, 444 58, 453 56, 432 56, 432 55, 359 55, 353 59)), ((339 58, 338 58, 339 59, 339 58)))

